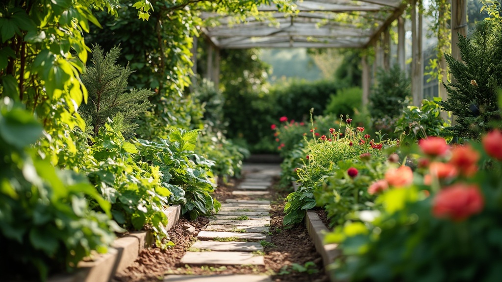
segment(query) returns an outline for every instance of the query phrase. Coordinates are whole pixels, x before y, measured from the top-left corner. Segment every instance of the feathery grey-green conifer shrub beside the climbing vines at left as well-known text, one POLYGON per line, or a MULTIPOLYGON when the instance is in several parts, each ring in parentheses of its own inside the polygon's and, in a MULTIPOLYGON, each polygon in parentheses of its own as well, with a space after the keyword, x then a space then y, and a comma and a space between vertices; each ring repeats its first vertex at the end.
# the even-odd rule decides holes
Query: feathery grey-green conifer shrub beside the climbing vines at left
POLYGON ((92 66, 86 67, 82 75, 89 97, 78 111, 86 119, 87 125, 93 127, 94 136, 108 119, 113 121, 122 135, 134 135, 138 127, 134 120, 150 107, 148 97, 153 94, 150 90, 133 89, 126 92, 128 78, 133 71, 129 66, 124 68, 116 64, 119 56, 118 47, 111 48, 103 55, 101 47, 94 46, 92 66))

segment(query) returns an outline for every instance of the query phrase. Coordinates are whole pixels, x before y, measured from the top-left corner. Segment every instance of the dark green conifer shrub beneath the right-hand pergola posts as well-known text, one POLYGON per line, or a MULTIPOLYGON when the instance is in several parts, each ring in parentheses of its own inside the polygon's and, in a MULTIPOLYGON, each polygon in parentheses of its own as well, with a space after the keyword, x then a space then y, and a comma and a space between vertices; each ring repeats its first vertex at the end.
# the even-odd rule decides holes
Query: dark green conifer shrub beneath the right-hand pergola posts
POLYGON ((369 114, 374 119, 401 115, 401 109, 408 103, 411 95, 410 80, 399 65, 389 71, 380 69, 376 73, 376 83, 369 95, 369 114))

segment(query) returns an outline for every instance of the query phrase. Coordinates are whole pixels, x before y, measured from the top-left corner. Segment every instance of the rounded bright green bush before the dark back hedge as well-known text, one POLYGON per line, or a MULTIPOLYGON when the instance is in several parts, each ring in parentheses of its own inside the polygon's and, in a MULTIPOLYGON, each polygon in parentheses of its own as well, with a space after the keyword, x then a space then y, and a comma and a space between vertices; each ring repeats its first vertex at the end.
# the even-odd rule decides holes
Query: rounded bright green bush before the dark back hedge
POLYGON ((354 108, 358 109, 362 103, 362 89, 352 87, 340 89, 336 95, 330 95, 324 114, 339 116, 340 114, 349 116, 354 115, 354 108))

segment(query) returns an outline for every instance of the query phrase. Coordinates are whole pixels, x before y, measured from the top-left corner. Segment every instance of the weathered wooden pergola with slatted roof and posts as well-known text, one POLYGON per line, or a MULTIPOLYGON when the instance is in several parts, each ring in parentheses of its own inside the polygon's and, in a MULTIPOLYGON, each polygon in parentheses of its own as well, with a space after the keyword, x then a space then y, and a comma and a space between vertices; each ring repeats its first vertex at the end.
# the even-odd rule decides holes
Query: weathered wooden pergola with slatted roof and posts
MULTIPOLYGON (((371 69, 389 69, 391 39, 389 30, 397 21, 397 58, 405 69, 405 20, 410 8, 412 28, 412 94, 415 105, 423 99, 424 64, 422 56, 422 0, 303 0, 295 13, 280 12, 277 6, 260 6, 260 17, 235 23, 232 15, 203 13, 214 25, 201 28, 210 41, 207 76, 219 82, 219 50, 245 48, 374 48, 373 65, 361 58, 363 104, 368 101, 371 69), (354 17, 355 16, 355 17, 354 17)), ((452 0, 452 55, 459 59, 458 33, 467 34, 467 0, 452 0)), ((196 46, 196 42, 194 42, 196 46)), ((194 51, 196 48, 194 48, 194 51)), ((440 96, 446 95, 444 91, 440 96)), ((446 97, 442 97, 443 99, 446 97)))

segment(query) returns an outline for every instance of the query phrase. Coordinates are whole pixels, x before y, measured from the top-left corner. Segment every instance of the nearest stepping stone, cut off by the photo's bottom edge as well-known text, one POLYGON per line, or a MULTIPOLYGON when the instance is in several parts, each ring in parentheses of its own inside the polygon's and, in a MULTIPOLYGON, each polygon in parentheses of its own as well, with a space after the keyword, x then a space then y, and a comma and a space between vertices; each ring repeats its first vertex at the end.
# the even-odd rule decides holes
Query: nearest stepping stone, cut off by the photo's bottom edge
POLYGON ((167 275, 164 282, 272 282, 270 276, 252 274, 167 275))

